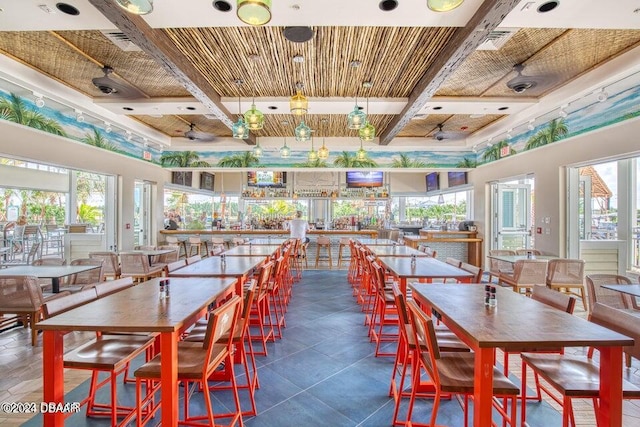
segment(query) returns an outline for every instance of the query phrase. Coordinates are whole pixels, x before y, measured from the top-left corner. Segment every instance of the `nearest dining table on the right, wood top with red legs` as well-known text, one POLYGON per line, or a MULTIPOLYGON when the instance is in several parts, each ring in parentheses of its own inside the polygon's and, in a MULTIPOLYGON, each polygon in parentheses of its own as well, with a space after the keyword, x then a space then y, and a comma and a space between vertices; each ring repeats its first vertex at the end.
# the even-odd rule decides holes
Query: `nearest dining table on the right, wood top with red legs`
POLYGON ((498 306, 484 305, 484 287, 411 284, 413 298, 456 333, 475 354, 473 425, 491 425, 494 350, 594 346, 600 350, 601 425, 622 425, 622 347, 633 339, 561 310, 497 288, 498 306))

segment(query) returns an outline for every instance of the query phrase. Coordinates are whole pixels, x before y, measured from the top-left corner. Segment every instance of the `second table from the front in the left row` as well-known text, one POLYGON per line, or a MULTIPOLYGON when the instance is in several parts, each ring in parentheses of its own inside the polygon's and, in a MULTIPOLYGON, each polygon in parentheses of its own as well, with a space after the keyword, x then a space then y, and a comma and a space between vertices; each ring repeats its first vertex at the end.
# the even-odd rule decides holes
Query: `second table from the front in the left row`
POLYGON ((169 277, 232 277, 237 279, 236 293, 242 295, 247 277, 267 259, 265 256, 229 256, 221 262, 220 256, 210 256, 201 261, 169 273, 169 277))

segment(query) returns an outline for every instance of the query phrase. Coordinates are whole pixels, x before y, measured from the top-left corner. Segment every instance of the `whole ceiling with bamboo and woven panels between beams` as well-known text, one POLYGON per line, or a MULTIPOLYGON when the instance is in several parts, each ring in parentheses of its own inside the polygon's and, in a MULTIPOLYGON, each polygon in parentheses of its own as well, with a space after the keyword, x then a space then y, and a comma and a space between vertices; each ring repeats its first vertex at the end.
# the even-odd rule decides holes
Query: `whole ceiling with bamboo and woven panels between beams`
POLYGON ((210 0, 156 0, 143 17, 110 0, 68 0, 77 16, 57 3, 0 0, 0 53, 172 137, 174 146, 189 143, 182 136, 190 123, 224 144, 253 98, 267 118, 247 143, 292 136, 300 117, 289 114, 288 98, 297 82, 310 100, 304 120, 318 135, 355 137, 346 115, 358 97, 381 145, 416 138, 470 145, 512 114, 539 113, 546 96, 612 59, 637 56, 640 42, 633 0, 560 0, 546 13, 538 11, 546 0, 466 0, 448 13, 431 12, 425 0, 399 0, 392 11, 377 0, 284 0, 273 2, 264 27, 242 24, 233 1, 221 12, 210 0), (291 26, 310 27, 312 38, 287 40, 291 26), (519 93, 507 85, 515 64, 534 84, 519 93), (105 65, 139 96, 96 88, 92 79, 105 65), (439 124, 444 141, 433 138, 439 124))

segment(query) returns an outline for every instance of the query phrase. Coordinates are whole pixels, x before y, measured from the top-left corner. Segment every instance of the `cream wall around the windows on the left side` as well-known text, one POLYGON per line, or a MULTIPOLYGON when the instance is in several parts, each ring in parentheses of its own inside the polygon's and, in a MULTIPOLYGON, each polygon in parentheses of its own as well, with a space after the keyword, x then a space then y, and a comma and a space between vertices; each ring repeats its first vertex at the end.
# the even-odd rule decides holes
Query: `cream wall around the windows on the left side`
MULTIPOLYGON (((41 163, 117 175, 119 177, 117 227, 118 248, 133 248, 133 191, 135 180, 146 180, 157 184, 159 194, 164 190, 164 182, 170 180, 168 171, 161 167, 121 154, 112 153, 67 138, 30 129, 22 125, 0 120, 0 155, 5 157, 34 160, 41 163), (130 229, 125 225, 131 224, 130 229)), ((0 181, 0 185, 3 182, 0 181)), ((37 185, 35 186, 37 187, 37 185)), ((157 235, 163 228, 163 197, 154 200, 156 214, 155 229, 157 235)))

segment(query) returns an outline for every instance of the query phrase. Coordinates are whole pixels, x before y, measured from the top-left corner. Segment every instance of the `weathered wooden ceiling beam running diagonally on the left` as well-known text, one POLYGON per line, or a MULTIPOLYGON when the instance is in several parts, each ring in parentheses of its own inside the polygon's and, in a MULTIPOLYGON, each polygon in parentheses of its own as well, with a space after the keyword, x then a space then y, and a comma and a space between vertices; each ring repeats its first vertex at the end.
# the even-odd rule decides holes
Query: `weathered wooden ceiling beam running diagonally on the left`
MULTIPOLYGON (((115 2, 104 0, 89 0, 89 2, 133 43, 155 59, 222 123, 228 128, 233 126, 231 113, 222 104, 220 95, 163 31, 151 28, 141 16, 127 13, 115 2)), ((255 145, 256 137, 251 134, 244 141, 255 145)))

